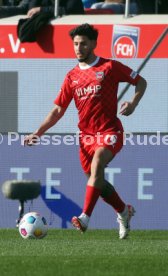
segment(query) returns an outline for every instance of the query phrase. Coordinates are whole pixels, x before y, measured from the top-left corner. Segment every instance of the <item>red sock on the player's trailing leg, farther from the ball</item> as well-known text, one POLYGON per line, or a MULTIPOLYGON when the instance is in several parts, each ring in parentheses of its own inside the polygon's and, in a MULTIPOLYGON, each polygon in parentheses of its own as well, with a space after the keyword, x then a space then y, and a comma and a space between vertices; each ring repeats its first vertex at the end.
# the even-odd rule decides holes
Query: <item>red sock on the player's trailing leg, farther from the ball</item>
POLYGON ((112 194, 106 198, 103 197, 103 200, 111 205, 117 213, 122 213, 125 209, 125 203, 122 201, 116 191, 113 191, 112 194))

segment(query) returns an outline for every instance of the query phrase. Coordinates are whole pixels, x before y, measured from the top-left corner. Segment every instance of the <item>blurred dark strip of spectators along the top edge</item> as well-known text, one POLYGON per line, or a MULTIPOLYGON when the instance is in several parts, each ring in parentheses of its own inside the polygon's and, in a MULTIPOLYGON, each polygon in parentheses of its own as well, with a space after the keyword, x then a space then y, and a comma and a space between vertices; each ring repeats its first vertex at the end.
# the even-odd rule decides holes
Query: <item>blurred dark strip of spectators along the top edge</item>
MULTIPOLYGON (((70 14, 124 14, 125 0, 59 0, 59 16, 70 14)), ((0 0, 0 18, 51 12, 54 0, 0 0)), ((167 14, 167 0, 130 0, 130 14, 167 14)))

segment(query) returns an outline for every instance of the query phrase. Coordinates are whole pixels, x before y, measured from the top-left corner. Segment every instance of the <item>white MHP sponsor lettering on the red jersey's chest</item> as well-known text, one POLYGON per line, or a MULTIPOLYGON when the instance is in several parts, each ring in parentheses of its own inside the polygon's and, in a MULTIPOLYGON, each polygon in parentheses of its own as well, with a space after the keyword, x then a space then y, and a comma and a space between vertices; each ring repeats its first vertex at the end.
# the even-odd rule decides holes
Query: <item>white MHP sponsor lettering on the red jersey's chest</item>
POLYGON ((101 85, 89 85, 87 87, 80 87, 75 89, 75 93, 78 98, 90 98, 100 96, 99 91, 101 90, 101 85))

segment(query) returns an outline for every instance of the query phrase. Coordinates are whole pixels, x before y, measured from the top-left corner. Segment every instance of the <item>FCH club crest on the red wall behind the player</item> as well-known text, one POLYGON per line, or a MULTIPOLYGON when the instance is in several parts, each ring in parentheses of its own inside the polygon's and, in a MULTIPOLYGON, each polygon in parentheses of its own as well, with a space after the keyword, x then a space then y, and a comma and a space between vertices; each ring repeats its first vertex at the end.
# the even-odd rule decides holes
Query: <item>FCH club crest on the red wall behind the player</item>
POLYGON ((112 55, 115 58, 135 58, 138 54, 139 28, 114 25, 112 55))

